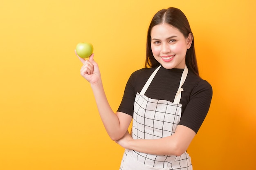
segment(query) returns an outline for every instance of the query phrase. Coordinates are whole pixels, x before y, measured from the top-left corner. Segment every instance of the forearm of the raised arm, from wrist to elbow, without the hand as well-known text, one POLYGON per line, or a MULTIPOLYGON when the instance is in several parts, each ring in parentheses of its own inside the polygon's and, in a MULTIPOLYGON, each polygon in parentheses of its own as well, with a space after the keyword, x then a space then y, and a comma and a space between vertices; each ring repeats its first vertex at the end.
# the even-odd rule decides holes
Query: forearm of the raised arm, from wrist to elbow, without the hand
POLYGON ((119 118, 110 107, 102 82, 92 84, 91 87, 99 110, 99 115, 108 135, 112 140, 120 139, 127 129, 123 130, 123 127, 120 125, 119 118))

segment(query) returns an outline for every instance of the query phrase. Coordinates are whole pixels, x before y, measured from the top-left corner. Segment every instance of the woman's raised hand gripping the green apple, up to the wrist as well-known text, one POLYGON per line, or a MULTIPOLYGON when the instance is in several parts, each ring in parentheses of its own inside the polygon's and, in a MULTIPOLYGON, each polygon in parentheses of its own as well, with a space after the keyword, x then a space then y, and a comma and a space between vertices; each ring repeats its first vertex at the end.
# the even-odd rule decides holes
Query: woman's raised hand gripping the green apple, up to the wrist
MULTIPOLYGON (((76 53, 76 50, 75 50, 76 53)), ((94 61, 93 57, 94 54, 92 54, 89 57, 89 60, 85 60, 84 58, 79 57, 79 55, 76 56, 79 58, 79 60, 83 63, 83 66, 81 67, 80 73, 81 75, 88 81, 90 84, 97 84, 101 82, 101 74, 99 71, 99 66, 97 62, 94 61)))

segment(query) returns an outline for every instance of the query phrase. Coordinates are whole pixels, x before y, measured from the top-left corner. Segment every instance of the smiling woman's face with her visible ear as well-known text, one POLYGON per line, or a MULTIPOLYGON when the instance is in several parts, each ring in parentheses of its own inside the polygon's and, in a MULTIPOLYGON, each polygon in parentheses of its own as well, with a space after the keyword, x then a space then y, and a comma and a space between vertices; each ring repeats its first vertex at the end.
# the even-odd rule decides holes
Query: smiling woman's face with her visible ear
POLYGON ((185 68, 186 51, 193 37, 188 38, 170 24, 153 26, 151 30, 151 49, 155 59, 166 69, 185 68))

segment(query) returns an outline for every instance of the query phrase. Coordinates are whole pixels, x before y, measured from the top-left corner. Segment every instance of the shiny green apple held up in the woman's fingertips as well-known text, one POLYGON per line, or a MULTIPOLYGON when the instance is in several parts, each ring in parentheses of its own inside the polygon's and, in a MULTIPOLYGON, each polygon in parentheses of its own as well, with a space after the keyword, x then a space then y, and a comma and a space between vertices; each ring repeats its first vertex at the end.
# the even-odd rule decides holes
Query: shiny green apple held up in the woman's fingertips
POLYGON ((88 58, 92 55, 93 46, 88 42, 80 42, 76 45, 76 53, 81 58, 88 58))

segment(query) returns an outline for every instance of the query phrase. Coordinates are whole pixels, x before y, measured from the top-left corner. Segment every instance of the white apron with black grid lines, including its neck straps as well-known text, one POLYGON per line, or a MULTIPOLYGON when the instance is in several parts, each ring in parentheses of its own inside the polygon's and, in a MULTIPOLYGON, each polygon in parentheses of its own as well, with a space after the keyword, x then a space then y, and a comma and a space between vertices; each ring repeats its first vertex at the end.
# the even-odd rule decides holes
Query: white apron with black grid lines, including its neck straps
MULTIPOLYGON (((144 95, 160 67, 152 73, 141 92, 136 94, 132 121, 133 139, 159 139, 171 136, 180 122, 182 109, 180 98, 188 68, 185 66, 180 86, 172 103, 166 100, 150 99, 144 95)), ((192 170, 192 165, 186 152, 177 157, 151 155, 126 149, 120 170, 192 170)))

